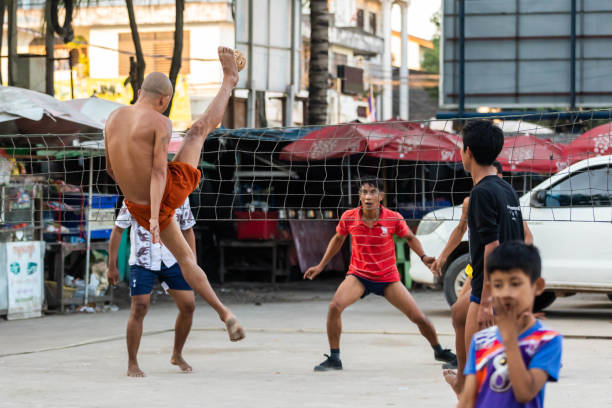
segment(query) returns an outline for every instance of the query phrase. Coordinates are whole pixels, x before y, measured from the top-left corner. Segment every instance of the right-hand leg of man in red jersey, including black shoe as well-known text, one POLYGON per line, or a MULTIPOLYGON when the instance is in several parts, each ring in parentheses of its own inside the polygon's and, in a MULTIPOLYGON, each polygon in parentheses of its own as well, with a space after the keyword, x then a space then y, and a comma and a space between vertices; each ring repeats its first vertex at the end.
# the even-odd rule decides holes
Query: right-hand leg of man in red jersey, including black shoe
POLYGON ((434 357, 438 361, 455 362, 456 356, 448 349, 443 349, 438 341, 438 334, 433 324, 421 311, 416 301, 401 282, 393 282, 385 288, 385 298, 404 313, 427 339, 434 350, 434 357))

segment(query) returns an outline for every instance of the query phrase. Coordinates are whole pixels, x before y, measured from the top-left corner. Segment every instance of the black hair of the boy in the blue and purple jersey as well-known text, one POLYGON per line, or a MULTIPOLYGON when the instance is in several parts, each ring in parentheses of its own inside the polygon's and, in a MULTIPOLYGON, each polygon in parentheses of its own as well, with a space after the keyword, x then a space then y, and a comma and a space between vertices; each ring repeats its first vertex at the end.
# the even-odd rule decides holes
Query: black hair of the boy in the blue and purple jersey
POLYGON ((535 282, 542 274, 542 259, 540 251, 533 245, 522 241, 504 242, 487 258, 487 269, 492 272, 509 272, 520 269, 535 282))

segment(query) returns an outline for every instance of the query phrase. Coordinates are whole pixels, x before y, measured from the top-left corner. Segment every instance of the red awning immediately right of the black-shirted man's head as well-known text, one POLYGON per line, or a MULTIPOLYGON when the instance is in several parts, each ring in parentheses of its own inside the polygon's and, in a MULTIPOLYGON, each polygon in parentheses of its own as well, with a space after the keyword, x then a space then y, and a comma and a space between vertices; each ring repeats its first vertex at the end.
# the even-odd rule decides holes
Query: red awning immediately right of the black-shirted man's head
POLYGON ((505 171, 552 174, 568 166, 563 148, 533 135, 509 137, 497 160, 505 171))

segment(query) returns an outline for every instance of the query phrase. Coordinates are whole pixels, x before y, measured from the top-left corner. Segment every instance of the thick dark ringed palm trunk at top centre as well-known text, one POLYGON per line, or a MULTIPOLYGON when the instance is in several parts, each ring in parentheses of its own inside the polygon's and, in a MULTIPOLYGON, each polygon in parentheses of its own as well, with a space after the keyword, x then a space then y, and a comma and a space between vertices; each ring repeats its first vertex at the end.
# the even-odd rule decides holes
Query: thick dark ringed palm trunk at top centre
POLYGON ((329 13, 327 0, 310 1, 310 64, 308 71, 308 124, 327 122, 329 13))

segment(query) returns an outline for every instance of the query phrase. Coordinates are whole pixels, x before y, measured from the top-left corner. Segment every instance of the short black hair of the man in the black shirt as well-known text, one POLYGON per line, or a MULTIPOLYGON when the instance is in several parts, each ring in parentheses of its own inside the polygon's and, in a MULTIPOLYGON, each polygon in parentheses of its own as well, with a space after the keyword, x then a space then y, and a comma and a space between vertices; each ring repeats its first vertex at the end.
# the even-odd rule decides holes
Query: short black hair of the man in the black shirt
POLYGON ((504 132, 488 120, 472 120, 461 130, 463 151, 467 148, 481 166, 493 164, 504 147, 504 132))

